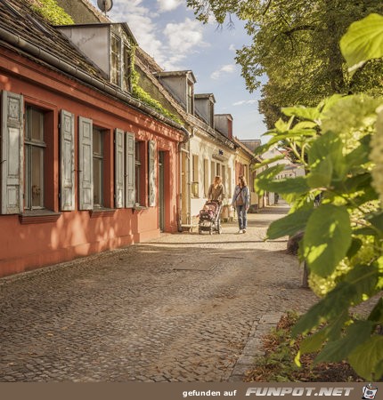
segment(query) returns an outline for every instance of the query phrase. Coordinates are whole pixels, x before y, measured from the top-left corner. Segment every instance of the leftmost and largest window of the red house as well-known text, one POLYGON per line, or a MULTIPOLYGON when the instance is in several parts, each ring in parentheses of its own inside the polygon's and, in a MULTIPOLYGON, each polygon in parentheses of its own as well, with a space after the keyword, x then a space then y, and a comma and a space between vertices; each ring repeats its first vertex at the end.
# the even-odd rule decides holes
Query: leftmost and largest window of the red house
POLYGON ((44 208, 45 114, 42 110, 26 108, 25 147, 25 208, 44 208))

